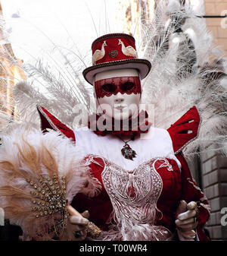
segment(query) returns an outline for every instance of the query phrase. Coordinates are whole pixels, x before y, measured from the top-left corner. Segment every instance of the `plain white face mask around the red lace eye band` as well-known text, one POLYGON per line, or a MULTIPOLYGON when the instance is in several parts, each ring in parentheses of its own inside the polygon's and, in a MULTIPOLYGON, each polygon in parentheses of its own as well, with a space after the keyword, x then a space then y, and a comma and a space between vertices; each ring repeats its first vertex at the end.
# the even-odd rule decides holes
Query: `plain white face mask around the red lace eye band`
MULTIPOLYGON (((114 77, 123 77, 124 80, 127 79, 127 77, 137 77, 137 81, 139 79, 138 72, 135 69, 104 71, 96 74, 94 87, 95 82, 114 77)), ((140 99, 141 93, 127 94, 123 93, 123 91, 120 92, 119 90, 115 90, 114 93, 109 93, 108 96, 99 96, 96 98, 98 109, 101 110, 101 112, 104 112, 104 115, 106 115, 107 118, 113 118, 117 120, 126 120, 130 117, 138 115, 138 105, 140 103, 140 99)))

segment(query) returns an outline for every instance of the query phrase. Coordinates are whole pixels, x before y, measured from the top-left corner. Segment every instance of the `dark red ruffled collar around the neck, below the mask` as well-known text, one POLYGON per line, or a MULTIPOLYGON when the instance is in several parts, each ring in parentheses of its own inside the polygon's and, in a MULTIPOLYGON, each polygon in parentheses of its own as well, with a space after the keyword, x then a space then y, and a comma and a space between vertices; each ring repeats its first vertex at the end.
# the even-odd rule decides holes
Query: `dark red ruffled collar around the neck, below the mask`
POLYGON ((149 131, 149 128, 151 127, 151 123, 148 122, 148 113, 144 110, 142 110, 138 116, 135 119, 129 119, 129 122, 124 122, 122 120, 114 120, 112 119, 111 122, 104 123, 104 131, 98 130, 97 122, 98 119, 101 118, 101 115, 93 114, 89 117, 89 124, 88 127, 92 131, 95 132, 95 134, 105 136, 107 134, 117 135, 120 134, 122 136, 128 136, 128 135, 137 135, 141 133, 147 133, 149 131), (115 122, 115 123, 114 123, 115 122), (129 125, 128 125, 129 123, 129 125), (120 131, 115 131, 115 128, 120 128, 120 131))

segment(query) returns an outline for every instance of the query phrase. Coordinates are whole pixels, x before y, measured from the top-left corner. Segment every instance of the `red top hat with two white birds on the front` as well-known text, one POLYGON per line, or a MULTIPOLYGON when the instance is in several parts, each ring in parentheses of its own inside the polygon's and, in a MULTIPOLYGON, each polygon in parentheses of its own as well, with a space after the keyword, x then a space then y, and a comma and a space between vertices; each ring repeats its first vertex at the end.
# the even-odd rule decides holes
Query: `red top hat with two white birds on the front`
POLYGON ((92 43, 92 67, 86 68, 82 74, 92 84, 95 74, 120 68, 135 68, 143 79, 151 70, 151 62, 138 58, 133 36, 110 33, 92 43))

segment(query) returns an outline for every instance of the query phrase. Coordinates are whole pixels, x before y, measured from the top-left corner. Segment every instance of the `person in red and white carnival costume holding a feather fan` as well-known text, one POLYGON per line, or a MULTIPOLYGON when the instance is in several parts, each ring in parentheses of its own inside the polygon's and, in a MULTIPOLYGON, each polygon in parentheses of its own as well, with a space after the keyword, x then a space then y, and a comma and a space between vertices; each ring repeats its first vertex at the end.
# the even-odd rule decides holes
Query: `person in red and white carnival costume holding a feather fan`
MULTIPOLYGON (((179 31, 183 14, 185 10, 179 12, 177 29, 175 13, 169 28, 162 28, 168 33, 159 39, 154 33, 152 42, 159 46, 152 62, 138 58, 135 40, 126 33, 110 33, 92 43, 92 66, 82 74, 94 87, 98 111, 89 116, 87 127, 68 128, 39 103, 42 131, 20 125, 3 137, 0 206, 12 223, 22 227, 23 239, 208 240, 204 225, 210 207, 182 153, 204 139, 197 109, 204 109, 204 99, 189 101, 187 106, 197 106, 191 105, 169 128, 154 127, 148 112, 140 109, 141 81, 157 81, 160 60, 171 63, 166 57, 169 31, 180 32, 185 46, 192 44, 179 31)), ((188 48, 190 61, 194 60, 194 49, 188 48)), ((207 71, 188 72, 191 62, 187 64, 181 68, 179 88, 207 71)), ((24 90, 26 85, 18 87, 24 90)), ((148 91, 146 96, 151 97, 148 91)))

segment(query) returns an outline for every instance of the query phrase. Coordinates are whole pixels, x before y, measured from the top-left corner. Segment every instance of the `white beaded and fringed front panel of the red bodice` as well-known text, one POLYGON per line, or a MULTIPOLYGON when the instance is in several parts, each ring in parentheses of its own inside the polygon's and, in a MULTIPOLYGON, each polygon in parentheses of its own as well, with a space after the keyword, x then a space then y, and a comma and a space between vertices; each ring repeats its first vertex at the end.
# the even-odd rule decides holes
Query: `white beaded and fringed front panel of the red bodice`
MULTIPOLYGON (((155 226, 157 200, 163 182, 157 169, 168 167, 165 158, 141 163, 128 172, 109 160, 104 160, 102 181, 113 206, 113 225, 106 232, 108 239, 167 240, 172 233, 164 226, 155 226), (111 237, 112 236, 112 237, 111 237)), ((103 232, 103 236, 105 232, 103 232)))

